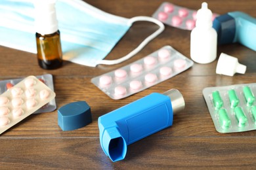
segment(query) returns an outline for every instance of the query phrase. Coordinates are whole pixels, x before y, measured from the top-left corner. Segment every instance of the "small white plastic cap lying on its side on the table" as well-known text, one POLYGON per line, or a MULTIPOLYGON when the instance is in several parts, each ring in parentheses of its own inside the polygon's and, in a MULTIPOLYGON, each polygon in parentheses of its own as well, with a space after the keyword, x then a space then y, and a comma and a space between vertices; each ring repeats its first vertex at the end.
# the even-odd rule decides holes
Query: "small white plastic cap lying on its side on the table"
POLYGON ((238 59, 221 53, 217 63, 216 73, 219 75, 234 76, 235 73, 244 74, 246 66, 238 63, 238 59))

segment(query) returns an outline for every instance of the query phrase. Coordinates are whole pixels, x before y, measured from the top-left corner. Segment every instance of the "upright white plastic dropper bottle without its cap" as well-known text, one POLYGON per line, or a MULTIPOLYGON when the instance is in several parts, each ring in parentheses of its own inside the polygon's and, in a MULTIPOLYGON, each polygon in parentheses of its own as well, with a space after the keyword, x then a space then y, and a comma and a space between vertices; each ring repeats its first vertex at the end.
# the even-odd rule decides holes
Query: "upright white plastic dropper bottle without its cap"
POLYGON ((190 57, 197 63, 211 63, 217 57, 217 32, 213 29, 212 17, 207 3, 202 3, 190 36, 190 57))

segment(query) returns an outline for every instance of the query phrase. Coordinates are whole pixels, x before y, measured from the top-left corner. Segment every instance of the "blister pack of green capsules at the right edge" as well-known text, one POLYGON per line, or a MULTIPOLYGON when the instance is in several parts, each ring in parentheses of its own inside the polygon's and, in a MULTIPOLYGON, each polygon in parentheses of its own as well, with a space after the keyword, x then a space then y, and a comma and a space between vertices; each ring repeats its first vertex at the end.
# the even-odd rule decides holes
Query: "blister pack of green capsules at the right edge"
POLYGON ((256 83, 203 89, 203 97, 220 133, 256 129, 256 83))

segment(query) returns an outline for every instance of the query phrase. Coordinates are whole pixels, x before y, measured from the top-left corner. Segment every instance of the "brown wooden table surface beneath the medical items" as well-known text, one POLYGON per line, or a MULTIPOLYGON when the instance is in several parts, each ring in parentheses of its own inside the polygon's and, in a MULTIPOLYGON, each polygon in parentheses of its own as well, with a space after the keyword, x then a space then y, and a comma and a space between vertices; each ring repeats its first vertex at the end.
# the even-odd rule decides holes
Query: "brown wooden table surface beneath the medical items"
MULTIPOLYGON (((163 1, 93 1, 98 9, 131 18, 151 16, 163 1)), ((199 9, 202 1, 171 1, 189 9, 199 9)), ((256 1, 207 1, 218 14, 240 10, 256 17, 256 1)), ((146 22, 134 24, 107 59, 124 56, 158 26, 146 22)), ((58 127, 57 110, 29 116, 0 136, 0 169, 255 169, 256 133, 218 133, 208 112, 202 90, 209 86, 253 83, 256 78, 256 53, 241 44, 218 47, 247 65, 245 75, 216 75, 217 60, 201 65, 194 63, 188 71, 165 80, 131 97, 110 99, 91 83, 91 78, 127 65, 162 46, 171 45, 190 58, 190 31, 166 26, 163 33, 139 54, 124 63, 96 68, 64 61, 56 70, 43 70, 35 54, 0 46, 0 80, 28 75, 54 76, 58 109, 74 101, 87 101, 93 122, 88 126, 62 131, 58 127), (98 117, 131 103, 152 92, 163 93, 177 88, 184 95, 186 108, 174 117, 173 126, 131 144, 125 160, 113 163, 100 147, 98 117)))

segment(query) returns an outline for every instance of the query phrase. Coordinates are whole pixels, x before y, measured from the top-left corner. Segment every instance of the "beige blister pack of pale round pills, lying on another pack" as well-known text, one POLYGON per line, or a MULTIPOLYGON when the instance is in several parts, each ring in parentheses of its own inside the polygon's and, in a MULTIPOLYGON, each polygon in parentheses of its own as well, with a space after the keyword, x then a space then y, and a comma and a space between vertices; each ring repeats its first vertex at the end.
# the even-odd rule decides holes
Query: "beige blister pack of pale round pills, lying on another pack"
POLYGON ((28 76, 0 95, 0 134, 54 99, 55 93, 28 76))

